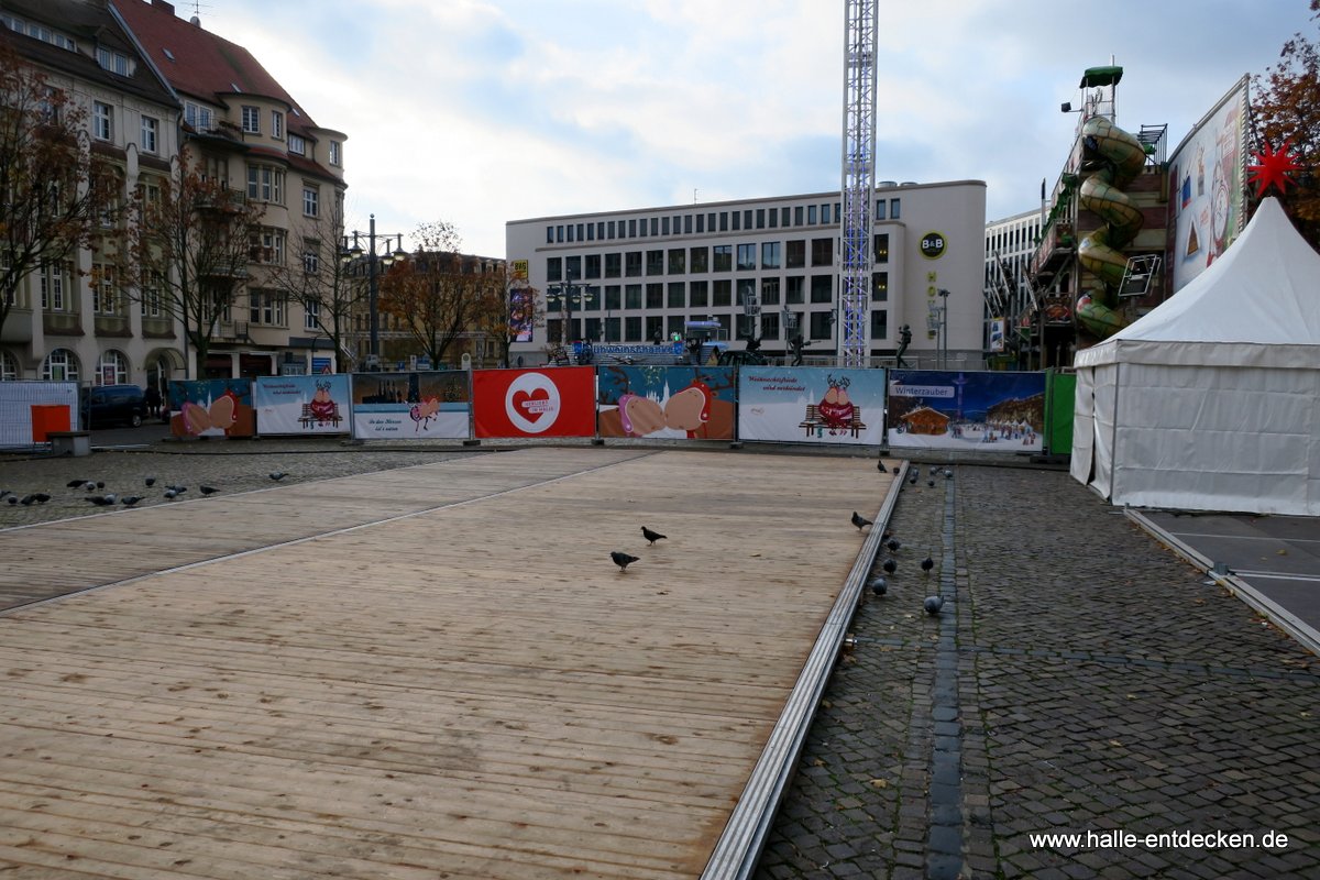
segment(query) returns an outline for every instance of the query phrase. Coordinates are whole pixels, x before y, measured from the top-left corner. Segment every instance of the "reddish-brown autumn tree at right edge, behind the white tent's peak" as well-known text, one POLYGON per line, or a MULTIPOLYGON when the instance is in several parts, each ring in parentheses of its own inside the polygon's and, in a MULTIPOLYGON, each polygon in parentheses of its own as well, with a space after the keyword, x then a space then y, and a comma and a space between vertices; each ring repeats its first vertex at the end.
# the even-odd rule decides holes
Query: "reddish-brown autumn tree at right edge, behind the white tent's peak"
MULTIPOLYGON (((1312 21, 1320 18, 1320 0, 1311 0, 1312 21)), ((1282 148, 1300 165, 1296 186, 1275 193, 1287 206, 1298 230, 1320 247, 1320 44, 1302 33, 1283 44, 1279 63, 1254 78, 1253 125, 1258 146, 1282 148)))

